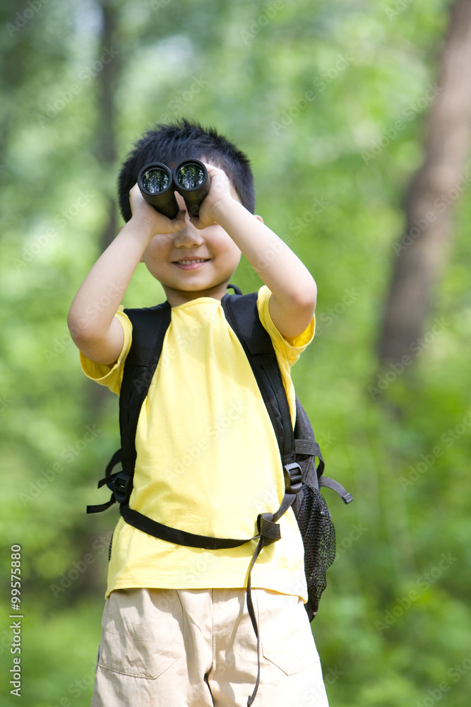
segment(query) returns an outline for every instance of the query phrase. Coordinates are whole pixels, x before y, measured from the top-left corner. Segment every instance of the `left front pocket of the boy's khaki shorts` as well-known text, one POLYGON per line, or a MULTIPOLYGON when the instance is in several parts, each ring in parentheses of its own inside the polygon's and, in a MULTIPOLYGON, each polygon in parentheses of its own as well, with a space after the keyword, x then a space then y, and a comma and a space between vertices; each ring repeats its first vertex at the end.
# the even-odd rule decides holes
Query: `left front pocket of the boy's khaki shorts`
POLYGON ((117 590, 105 604, 98 665, 155 679, 184 652, 175 590, 117 590))

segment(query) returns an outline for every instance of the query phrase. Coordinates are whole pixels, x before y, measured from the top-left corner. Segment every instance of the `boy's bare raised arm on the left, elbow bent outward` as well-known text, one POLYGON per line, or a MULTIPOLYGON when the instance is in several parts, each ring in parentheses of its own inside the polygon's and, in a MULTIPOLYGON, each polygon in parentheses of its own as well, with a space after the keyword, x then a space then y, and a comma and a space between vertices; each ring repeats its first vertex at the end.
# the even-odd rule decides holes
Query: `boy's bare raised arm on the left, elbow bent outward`
POLYGON ((123 346, 123 329, 114 316, 133 272, 155 233, 181 228, 184 212, 170 221, 131 189, 133 216, 100 256, 81 284, 68 312, 68 328, 78 349, 96 363, 111 365, 123 346))

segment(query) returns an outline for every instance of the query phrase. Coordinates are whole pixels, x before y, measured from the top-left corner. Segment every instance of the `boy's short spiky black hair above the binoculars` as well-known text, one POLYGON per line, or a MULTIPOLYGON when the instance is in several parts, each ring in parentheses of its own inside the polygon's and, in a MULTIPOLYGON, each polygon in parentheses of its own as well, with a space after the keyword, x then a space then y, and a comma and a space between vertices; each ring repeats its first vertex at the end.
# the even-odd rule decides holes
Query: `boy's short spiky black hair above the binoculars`
POLYGON ((254 175, 249 158, 213 127, 205 128, 186 118, 172 124, 158 123, 136 142, 121 165, 118 177, 119 209, 124 221, 131 218, 129 191, 138 173, 150 162, 173 168, 185 158, 204 158, 225 171, 246 209, 255 212, 254 175))

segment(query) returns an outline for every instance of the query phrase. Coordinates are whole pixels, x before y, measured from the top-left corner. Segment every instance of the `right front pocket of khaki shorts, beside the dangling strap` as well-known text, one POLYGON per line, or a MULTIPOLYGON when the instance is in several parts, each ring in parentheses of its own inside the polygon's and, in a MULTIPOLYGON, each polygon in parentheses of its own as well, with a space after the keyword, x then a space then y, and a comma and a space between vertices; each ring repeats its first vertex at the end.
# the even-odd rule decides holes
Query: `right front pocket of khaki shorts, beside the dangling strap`
POLYGON ((270 590, 253 592, 258 604, 258 630, 264 658, 287 675, 319 663, 302 600, 270 590))

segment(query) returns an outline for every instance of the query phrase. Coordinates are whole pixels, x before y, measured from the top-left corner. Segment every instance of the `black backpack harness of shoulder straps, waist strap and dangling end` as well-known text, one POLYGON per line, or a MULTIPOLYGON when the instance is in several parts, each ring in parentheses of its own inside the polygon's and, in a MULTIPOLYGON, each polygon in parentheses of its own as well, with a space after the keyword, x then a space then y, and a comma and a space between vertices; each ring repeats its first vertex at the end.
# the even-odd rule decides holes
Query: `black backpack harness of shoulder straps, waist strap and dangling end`
MULTIPOLYGON (((226 549, 239 547, 252 540, 258 540, 249 567, 246 593, 247 609, 257 638, 258 663, 256 685, 247 700, 247 705, 250 707, 254 702, 260 683, 260 637, 251 597, 251 571, 263 547, 276 542, 281 537, 280 526, 277 521, 290 508, 294 498, 296 498, 296 494, 301 489, 301 477, 299 474, 301 469, 294 462, 296 449, 294 446, 290 406, 270 335, 258 317, 257 293, 243 297, 240 296, 241 293, 238 288, 233 288, 236 294, 232 296, 226 295, 222 299, 222 307, 229 325, 237 334, 244 348, 275 431, 285 473, 285 495, 282 498, 280 508, 275 513, 258 515, 258 534, 246 539, 216 538, 177 530, 177 528, 162 525, 162 523, 138 513, 133 508, 129 508, 129 496, 133 486, 133 474, 136 464, 136 428, 138 418, 150 381, 153 378, 162 353, 165 332, 171 320, 171 308, 169 303, 165 302, 154 308, 124 310, 133 324, 133 340, 126 358, 126 366, 124 366, 119 397, 121 450, 115 453, 108 464, 105 479, 100 481, 100 486, 107 483, 110 489, 114 489, 114 495, 109 503, 102 504, 102 506, 89 506, 87 510, 88 513, 105 510, 117 500, 120 503, 120 513, 129 525, 153 537, 188 547, 226 549), (112 474, 112 468, 119 461, 122 463, 122 471, 112 474)), ((311 452, 306 450, 304 453, 311 452)))

